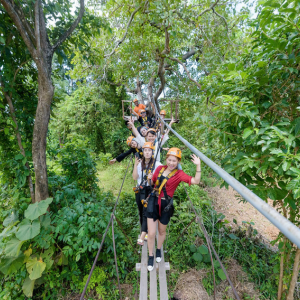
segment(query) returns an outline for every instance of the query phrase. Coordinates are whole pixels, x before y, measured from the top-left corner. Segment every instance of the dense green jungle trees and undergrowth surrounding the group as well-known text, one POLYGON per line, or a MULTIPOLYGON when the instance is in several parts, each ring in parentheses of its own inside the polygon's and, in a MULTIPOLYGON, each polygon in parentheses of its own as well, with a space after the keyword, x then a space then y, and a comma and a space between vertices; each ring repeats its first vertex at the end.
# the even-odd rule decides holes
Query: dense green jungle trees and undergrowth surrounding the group
MULTIPOLYGON (((299 16, 292 0, 0 0, 0 298, 82 291, 115 202, 99 170, 113 180, 110 168, 127 166, 108 165, 127 149, 121 100, 151 99, 168 113, 163 100, 180 100, 176 131, 299 226, 299 16)), ((169 145, 183 147, 175 136, 169 145)), ((224 184, 203 169, 202 187, 224 184)), ((300 249, 281 233, 276 252, 233 234, 201 187, 189 191, 224 261, 234 256, 263 299, 297 297, 300 249)), ((192 218, 182 188, 175 198, 170 244, 192 218)), ((117 211, 135 241, 133 193, 117 211)), ((170 285, 196 266, 209 270, 211 294, 210 262, 195 255, 203 233, 197 224, 188 233, 168 254, 170 285)), ((119 227, 115 240, 134 293, 139 256, 119 227)), ((119 295, 112 250, 109 233, 91 299, 119 295)))

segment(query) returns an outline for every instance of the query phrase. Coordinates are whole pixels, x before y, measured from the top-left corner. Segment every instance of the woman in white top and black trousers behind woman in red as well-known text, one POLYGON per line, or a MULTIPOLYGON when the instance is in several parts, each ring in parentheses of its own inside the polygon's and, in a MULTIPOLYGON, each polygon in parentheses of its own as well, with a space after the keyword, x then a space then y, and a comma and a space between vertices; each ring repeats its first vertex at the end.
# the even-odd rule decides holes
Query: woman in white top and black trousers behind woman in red
POLYGON ((141 236, 137 240, 139 245, 144 245, 144 240, 147 240, 147 204, 146 199, 151 192, 150 180, 147 178, 150 173, 153 173, 158 166, 161 166, 159 161, 154 161, 153 158, 154 146, 151 142, 146 142, 143 145, 143 159, 135 158, 132 177, 137 180, 135 188, 135 200, 139 210, 141 223, 141 236))

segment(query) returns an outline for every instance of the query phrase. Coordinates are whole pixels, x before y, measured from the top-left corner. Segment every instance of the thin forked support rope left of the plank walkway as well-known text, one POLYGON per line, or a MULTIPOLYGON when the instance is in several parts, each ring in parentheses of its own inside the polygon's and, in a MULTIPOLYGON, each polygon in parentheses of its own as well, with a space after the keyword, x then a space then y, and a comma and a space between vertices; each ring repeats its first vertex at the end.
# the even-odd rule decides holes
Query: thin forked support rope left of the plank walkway
MULTIPOLYGON (((128 172, 128 168, 129 168, 129 166, 130 166, 130 163, 131 163, 131 161, 132 161, 132 158, 133 158, 133 156, 131 155, 131 159, 130 159, 130 161, 128 162, 127 169, 126 169, 126 172, 125 172, 125 175, 124 175, 124 178, 123 178, 123 182, 122 182, 122 185, 121 185, 121 188, 120 188, 120 191, 119 191, 119 194, 118 194, 118 197, 117 197, 115 206, 114 206, 114 208, 113 208, 113 211, 112 211, 111 217, 110 217, 110 219, 109 219, 108 225, 107 225, 107 227, 106 227, 106 229, 105 229, 105 232, 104 232, 104 235, 103 235, 103 237, 102 237, 102 241, 101 241, 100 247, 99 247, 99 249, 98 249, 97 255, 96 255, 96 257, 95 257, 93 266, 92 266, 92 268, 91 268, 89 277, 88 277, 88 279, 87 279, 87 281, 86 281, 86 284, 85 284, 85 286, 84 286, 83 292, 82 292, 82 294, 81 294, 81 296, 80 296, 80 300, 83 300, 83 299, 84 299, 84 295, 85 295, 85 293, 86 293, 86 289, 87 289, 87 287, 88 287, 88 285, 89 285, 89 282, 90 282, 90 280, 91 280, 93 271, 94 271, 94 269, 95 269, 95 267, 96 267, 96 263, 97 263, 97 261, 98 261, 99 254, 100 254, 100 252, 101 252, 101 250, 102 250, 102 247, 103 247, 104 240, 105 240, 105 238, 106 238, 108 229, 109 229, 109 227, 110 227, 110 224, 113 222, 114 213, 115 213, 115 210, 116 210, 117 205, 118 205, 118 202, 119 202, 120 194, 121 194, 121 191, 122 191, 122 188, 123 188, 123 185, 124 185, 124 182, 125 182, 125 178, 126 178, 126 175, 127 175, 127 172, 128 172)), ((112 229, 113 229, 113 226, 112 226, 112 229)), ((113 236, 114 236, 114 233, 113 233, 113 236)), ((115 243, 115 242, 114 242, 114 237, 113 237, 113 244, 114 244, 114 243, 115 243)), ((114 246, 114 252, 115 252, 115 246, 114 246)), ((115 257, 115 264, 116 264, 116 269, 117 269, 118 266, 117 266, 117 262, 116 262, 116 257, 115 257)), ((118 269, 117 269, 117 270, 118 270, 118 269)), ((120 294, 120 299, 122 300, 122 295, 121 295, 121 290, 120 290, 120 283, 119 283, 119 275, 118 275, 118 271, 117 271, 117 277, 118 277, 118 284, 119 284, 119 294, 120 294)))

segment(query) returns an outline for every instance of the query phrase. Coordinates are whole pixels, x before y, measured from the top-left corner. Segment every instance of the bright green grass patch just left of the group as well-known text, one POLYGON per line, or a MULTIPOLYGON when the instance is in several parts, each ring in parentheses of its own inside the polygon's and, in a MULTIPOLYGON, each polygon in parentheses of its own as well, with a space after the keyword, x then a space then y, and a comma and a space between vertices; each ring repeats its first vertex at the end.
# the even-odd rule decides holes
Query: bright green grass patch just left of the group
MULTIPOLYGON (((111 191, 114 196, 118 196, 129 160, 130 158, 127 158, 120 163, 115 162, 113 165, 98 162, 97 177, 99 179, 99 187, 105 191, 111 191)), ((132 178, 132 171, 133 164, 131 163, 128 168, 122 194, 133 193, 132 188, 136 185, 136 183, 132 178)))

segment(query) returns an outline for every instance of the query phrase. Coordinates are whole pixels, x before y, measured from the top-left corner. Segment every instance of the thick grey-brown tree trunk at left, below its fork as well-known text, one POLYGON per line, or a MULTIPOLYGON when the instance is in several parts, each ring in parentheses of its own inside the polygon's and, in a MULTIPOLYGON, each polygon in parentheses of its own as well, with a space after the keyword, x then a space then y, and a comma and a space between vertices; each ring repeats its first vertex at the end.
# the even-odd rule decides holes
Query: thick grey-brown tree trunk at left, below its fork
MULTIPOLYGON (((51 70, 48 72, 51 74, 51 70)), ((54 95, 54 86, 51 79, 45 80, 39 70, 38 75, 38 106, 32 140, 32 159, 35 171, 35 200, 39 202, 49 197, 48 176, 46 164, 46 139, 50 119, 50 107, 54 95)))

